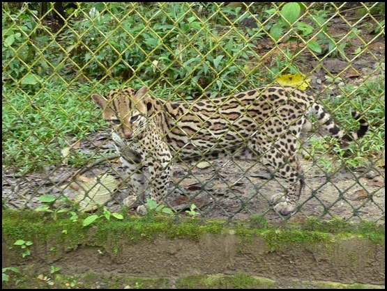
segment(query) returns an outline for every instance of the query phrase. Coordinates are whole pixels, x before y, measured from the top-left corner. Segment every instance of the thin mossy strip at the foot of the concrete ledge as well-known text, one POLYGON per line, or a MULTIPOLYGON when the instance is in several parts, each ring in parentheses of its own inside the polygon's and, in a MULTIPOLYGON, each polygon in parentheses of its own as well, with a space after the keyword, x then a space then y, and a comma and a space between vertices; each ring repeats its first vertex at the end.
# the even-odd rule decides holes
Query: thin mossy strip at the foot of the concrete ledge
POLYGON ((245 274, 197 275, 180 278, 144 278, 131 276, 101 276, 85 273, 76 276, 63 274, 10 274, 3 289, 384 289, 383 285, 343 284, 329 281, 273 281, 245 274))

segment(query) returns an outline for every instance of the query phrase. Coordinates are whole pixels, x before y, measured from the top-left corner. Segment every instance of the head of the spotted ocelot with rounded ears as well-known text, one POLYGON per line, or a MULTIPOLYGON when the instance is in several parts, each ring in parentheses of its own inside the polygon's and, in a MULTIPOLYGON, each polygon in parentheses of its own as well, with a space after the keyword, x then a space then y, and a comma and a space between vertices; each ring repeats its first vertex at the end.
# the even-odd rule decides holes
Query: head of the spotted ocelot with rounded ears
POLYGON ((147 88, 113 90, 107 98, 92 94, 91 97, 103 109, 103 118, 122 139, 141 138, 146 127, 148 108, 147 88))

